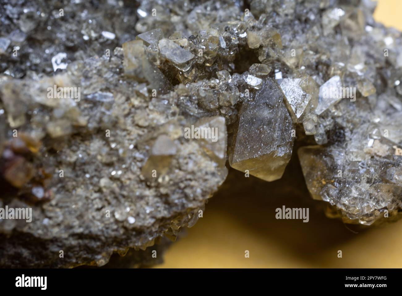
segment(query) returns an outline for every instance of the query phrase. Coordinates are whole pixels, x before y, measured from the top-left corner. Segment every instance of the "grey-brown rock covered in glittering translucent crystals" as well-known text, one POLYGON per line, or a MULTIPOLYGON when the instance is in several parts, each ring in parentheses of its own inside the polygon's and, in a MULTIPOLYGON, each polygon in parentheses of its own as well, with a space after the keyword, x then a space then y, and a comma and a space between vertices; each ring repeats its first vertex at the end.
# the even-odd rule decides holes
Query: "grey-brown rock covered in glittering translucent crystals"
POLYGON ((31 207, 33 220, 0 220, 0 266, 105 265, 174 239, 225 180, 226 160, 273 181, 293 147, 332 216, 397 217, 402 36, 374 8, 6 1, 0 207, 31 207), (216 141, 185 137, 192 126, 216 128, 216 141))

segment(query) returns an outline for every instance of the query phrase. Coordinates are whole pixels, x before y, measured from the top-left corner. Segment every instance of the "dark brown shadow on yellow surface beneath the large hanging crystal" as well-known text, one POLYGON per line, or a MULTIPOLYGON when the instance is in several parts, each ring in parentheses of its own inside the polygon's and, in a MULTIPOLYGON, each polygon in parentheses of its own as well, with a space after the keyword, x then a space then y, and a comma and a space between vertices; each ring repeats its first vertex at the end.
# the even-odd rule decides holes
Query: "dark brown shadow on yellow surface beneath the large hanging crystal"
POLYGON ((219 211, 241 221, 261 240, 274 241, 293 255, 303 254, 308 261, 318 261, 317 254, 356 238, 367 231, 357 225, 345 225, 340 219, 324 214, 326 203, 314 201, 308 192, 297 153, 293 153, 283 177, 265 182, 230 169, 228 178, 210 199, 206 211, 219 211), (276 219, 277 208, 309 208, 309 221, 276 219))

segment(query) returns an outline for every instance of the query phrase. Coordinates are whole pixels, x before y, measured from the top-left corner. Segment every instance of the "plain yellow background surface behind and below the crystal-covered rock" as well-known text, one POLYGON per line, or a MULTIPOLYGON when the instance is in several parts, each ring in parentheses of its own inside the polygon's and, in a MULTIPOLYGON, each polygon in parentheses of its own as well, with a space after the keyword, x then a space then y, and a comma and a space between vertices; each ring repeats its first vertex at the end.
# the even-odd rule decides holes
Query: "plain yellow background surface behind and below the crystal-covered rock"
MULTIPOLYGON (((374 17, 402 30, 402 0, 380 0, 374 17)), ((245 179, 239 174, 230 176, 245 179)), ((287 189, 291 177, 271 183, 250 177, 247 182, 221 188, 156 267, 402 267, 402 220, 361 230, 328 219, 315 203, 292 193, 287 189), (284 192, 275 189, 281 186, 284 192), (310 207, 308 223, 275 219, 277 207, 301 207, 301 199, 310 207)), ((292 186, 301 185, 295 181, 292 186)))

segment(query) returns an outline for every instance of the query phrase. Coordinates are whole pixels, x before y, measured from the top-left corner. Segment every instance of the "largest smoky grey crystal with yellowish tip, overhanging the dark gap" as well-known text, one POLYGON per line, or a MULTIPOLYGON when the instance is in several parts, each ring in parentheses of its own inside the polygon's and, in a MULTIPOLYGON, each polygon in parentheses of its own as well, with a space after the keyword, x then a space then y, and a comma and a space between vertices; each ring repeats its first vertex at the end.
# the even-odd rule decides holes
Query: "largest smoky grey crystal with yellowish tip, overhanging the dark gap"
POLYGON ((244 103, 240 110, 230 166, 266 181, 281 178, 291 157, 291 130, 283 94, 274 81, 267 79, 255 100, 244 103))

